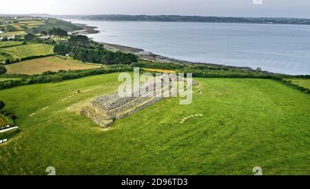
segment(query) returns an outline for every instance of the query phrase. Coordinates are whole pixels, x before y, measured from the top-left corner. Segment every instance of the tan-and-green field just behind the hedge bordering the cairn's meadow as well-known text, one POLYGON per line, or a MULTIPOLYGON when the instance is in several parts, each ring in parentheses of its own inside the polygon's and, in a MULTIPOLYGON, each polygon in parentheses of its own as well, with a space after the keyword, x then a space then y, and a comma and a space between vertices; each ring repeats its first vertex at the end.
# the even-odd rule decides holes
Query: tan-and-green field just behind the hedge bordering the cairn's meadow
POLYGON ((76 63, 71 60, 64 60, 56 56, 25 60, 20 63, 7 65, 8 74, 41 74, 44 71, 92 69, 99 66, 76 63))

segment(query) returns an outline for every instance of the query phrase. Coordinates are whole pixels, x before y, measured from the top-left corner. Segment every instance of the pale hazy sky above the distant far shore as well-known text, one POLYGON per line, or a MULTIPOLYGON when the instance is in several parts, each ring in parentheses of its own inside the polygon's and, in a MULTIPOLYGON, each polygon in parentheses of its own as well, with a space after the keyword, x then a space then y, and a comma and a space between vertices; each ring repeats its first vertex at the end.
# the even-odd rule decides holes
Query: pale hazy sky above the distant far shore
POLYGON ((310 0, 10 0, 0 14, 178 14, 310 18, 310 0))

